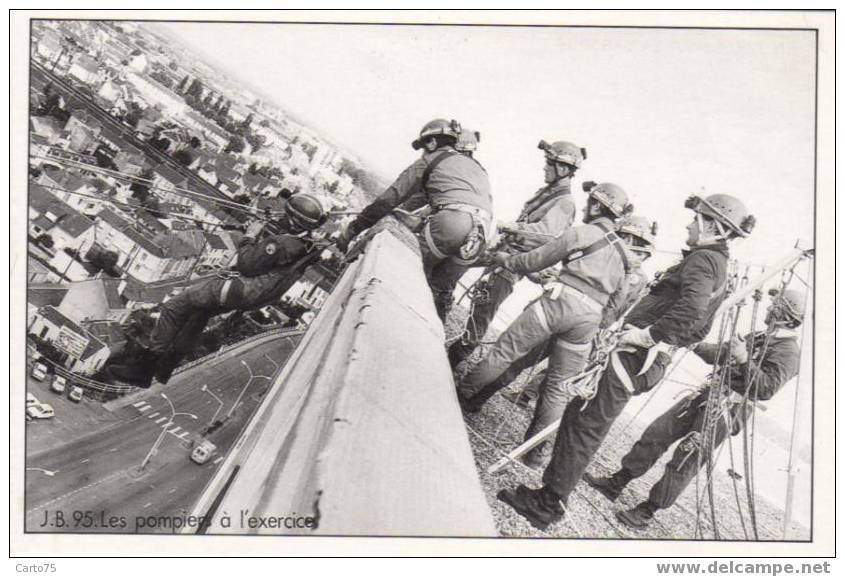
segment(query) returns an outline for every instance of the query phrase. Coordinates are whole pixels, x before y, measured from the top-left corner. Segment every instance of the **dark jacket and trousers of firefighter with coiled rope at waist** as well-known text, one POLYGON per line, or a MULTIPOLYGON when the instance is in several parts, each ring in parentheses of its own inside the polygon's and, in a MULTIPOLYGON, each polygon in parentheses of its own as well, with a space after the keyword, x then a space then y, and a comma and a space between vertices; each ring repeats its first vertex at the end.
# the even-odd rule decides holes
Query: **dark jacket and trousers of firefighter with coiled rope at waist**
MULTIPOLYGON (((635 327, 650 326, 656 342, 678 347, 690 346, 709 332, 725 298, 728 263, 724 241, 683 254, 683 260, 664 273, 627 318, 627 323, 635 327)), ((544 485, 564 504, 625 405, 633 395, 657 385, 671 361, 668 354, 660 353, 645 374, 636 376, 648 349, 613 355, 616 362, 602 375, 596 396, 589 402, 576 398, 567 405, 552 461, 543 474, 544 485)))

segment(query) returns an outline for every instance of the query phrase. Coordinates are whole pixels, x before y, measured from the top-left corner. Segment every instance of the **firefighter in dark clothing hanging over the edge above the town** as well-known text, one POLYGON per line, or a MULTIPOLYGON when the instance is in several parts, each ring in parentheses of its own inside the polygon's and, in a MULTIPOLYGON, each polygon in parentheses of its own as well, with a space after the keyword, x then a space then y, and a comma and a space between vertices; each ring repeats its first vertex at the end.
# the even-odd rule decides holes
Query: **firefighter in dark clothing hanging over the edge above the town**
POLYGON ((310 232, 326 221, 326 209, 314 195, 291 197, 279 221, 285 232, 259 240, 264 222, 251 224, 240 241, 234 270, 204 278, 160 305, 160 315, 148 338, 130 345, 97 378, 149 387, 153 376, 166 383, 179 360, 193 348, 211 318, 277 301, 315 262, 323 245, 310 232))

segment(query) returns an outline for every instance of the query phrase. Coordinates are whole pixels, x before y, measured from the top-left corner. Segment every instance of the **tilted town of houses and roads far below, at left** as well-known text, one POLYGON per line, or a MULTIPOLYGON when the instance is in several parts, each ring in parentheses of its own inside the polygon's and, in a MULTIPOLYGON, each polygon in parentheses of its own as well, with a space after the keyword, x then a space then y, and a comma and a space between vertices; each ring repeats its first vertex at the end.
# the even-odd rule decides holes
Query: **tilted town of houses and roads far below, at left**
POLYGON ((225 270, 245 223, 272 221, 303 192, 342 215, 373 177, 152 25, 36 21, 30 78, 27 501, 39 506, 26 528, 143 531, 118 517, 189 504, 210 472, 196 461, 222 459, 326 299, 337 259, 327 251, 272 304, 212 320, 175 367, 178 381, 201 365, 191 386, 170 396, 133 400, 142 389, 98 378, 104 363, 160 303, 225 270), (210 454, 198 457, 203 442, 210 454), (92 446, 107 462, 84 458, 92 446), (190 482, 162 489, 182 469, 190 482), (74 491, 73 510, 114 502, 121 515, 57 518, 50 502, 74 491))

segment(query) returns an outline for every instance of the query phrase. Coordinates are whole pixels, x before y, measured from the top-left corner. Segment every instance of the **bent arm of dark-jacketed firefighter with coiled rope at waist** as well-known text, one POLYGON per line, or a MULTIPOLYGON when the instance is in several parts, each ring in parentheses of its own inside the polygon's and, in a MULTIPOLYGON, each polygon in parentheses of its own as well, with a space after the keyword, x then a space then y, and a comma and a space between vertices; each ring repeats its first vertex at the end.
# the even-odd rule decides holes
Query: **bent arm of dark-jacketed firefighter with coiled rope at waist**
POLYGON ((716 289, 717 271, 706 251, 688 257, 680 275, 680 296, 652 326, 655 341, 677 344, 707 314, 710 295, 716 289))

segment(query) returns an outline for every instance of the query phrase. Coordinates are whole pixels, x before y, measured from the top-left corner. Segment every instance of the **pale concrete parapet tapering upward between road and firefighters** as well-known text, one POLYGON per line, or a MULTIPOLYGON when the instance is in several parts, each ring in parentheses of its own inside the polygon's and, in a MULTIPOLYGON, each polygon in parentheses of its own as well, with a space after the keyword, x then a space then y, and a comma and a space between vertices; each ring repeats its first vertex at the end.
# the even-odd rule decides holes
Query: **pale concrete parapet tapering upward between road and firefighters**
POLYGON ((205 533, 497 534, 415 243, 382 229, 347 267, 194 507, 205 533))

